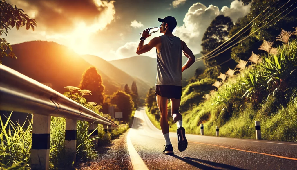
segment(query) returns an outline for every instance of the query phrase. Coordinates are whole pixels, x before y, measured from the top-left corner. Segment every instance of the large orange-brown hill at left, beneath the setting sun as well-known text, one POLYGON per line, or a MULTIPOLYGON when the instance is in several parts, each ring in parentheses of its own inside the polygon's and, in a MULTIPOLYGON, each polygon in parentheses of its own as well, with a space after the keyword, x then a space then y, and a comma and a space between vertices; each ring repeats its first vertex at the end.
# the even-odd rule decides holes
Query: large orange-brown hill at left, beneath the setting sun
MULTIPOLYGON (((13 51, 18 59, 4 57, 3 65, 6 65, 38 82, 44 83, 59 93, 66 91, 65 86, 78 87, 83 72, 92 66, 80 55, 76 54, 66 46, 54 42, 47 41, 30 41, 12 45, 13 51)), ((99 58, 99 57, 97 57, 99 58)), ((100 65, 111 64, 101 59, 100 65)), ((98 63, 94 66, 97 67, 98 63)), ((110 78, 110 70, 98 68, 97 71, 102 77, 103 85, 105 85, 105 93, 112 94, 120 89, 122 84, 128 83, 132 85, 132 80, 121 79, 123 75, 129 76, 127 73, 117 69, 117 74, 110 78), (106 72, 105 72, 106 71, 106 72), (118 81, 120 79, 121 81, 118 81)), ((130 76, 131 77, 131 76, 130 76)), ((136 80, 136 79, 135 79, 136 80)), ((139 81, 138 81, 139 82, 139 81)), ((139 82, 138 88, 148 91, 149 86, 144 82, 139 82), (144 87, 141 87, 143 85, 144 87)), ((143 92, 144 93, 144 92, 143 92)), ((143 94, 141 93, 141 94, 143 94)))

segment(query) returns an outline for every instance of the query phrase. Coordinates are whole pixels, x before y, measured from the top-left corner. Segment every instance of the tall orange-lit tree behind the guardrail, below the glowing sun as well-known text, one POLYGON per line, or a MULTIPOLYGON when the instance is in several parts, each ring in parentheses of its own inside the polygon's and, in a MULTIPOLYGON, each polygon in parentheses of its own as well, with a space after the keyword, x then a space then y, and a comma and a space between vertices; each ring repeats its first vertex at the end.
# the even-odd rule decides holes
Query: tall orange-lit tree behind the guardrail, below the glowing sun
POLYGON ((90 67, 83 73, 79 88, 91 91, 92 95, 86 96, 88 101, 96 102, 98 105, 103 104, 105 87, 102 85, 101 76, 95 67, 90 67))

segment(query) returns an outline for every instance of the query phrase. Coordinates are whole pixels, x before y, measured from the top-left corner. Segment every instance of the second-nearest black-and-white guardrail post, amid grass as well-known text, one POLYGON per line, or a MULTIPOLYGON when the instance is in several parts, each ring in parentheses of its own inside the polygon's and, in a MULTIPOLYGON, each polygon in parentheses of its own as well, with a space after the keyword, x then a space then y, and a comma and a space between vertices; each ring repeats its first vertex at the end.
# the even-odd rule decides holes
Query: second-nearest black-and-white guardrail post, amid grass
POLYGON ((66 118, 65 149, 76 159, 76 120, 66 118))

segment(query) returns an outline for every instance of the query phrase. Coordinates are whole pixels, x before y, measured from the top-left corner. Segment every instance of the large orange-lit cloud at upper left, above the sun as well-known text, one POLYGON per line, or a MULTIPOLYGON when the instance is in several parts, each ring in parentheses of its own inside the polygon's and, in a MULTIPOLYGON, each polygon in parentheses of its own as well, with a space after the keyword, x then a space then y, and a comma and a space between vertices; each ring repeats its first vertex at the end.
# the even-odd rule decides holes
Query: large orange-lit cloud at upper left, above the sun
POLYGON ((101 0, 8 0, 37 21, 37 30, 48 34, 67 33, 84 24, 93 32, 105 28, 114 19, 114 1, 101 0))

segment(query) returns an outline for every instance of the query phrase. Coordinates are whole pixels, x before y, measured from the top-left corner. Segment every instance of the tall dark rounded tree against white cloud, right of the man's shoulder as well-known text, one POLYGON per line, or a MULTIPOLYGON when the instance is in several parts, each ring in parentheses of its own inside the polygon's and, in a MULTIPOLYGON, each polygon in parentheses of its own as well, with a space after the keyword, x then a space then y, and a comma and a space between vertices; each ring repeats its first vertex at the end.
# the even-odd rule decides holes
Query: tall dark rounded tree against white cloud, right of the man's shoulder
MULTIPOLYGON (((219 45, 228 40, 228 35, 230 29, 233 27, 233 22, 230 17, 226 17, 224 15, 218 15, 213 21, 211 21, 210 26, 206 29, 206 32, 202 38, 202 51, 203 55, 208 54, 212 50, 216 49, 219 45)), ((226 60, 230 59, 230 50, 218 55, 217 57, 213 57, 209 60, 204 59, 204 64, 207 68, 211 68, 222 64, 226 60)), ((229 61, 225 64, 221 65, 223 71, 227 71, 229 67, 235 66, 234 61, 229 61)))

